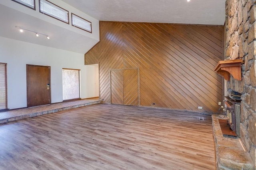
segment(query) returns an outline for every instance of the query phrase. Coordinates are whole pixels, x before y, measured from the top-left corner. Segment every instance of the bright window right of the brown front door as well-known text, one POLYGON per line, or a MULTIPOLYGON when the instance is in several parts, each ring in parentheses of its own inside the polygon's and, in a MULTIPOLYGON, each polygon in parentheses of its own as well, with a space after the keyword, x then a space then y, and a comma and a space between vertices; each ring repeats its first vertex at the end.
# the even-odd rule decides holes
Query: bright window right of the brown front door
POLYGON ((80 98, 80 70, 62 69, 63 100, 80 98))

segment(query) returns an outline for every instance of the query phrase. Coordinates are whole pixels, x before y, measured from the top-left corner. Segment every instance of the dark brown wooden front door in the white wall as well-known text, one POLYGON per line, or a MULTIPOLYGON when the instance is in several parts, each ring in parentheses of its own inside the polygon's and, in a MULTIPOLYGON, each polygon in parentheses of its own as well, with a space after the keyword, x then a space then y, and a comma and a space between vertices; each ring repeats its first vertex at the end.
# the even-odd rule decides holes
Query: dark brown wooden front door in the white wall
POLYGON ((50 98, 50 67, 27 66, 27 107, 51 103, 50 98))

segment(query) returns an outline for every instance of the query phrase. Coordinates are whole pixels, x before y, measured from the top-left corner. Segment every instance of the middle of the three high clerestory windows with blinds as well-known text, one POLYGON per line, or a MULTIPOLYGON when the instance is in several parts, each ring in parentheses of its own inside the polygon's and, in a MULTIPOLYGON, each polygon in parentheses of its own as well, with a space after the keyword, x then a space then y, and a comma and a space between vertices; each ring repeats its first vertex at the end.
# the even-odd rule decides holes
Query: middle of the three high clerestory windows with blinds
POLYGON ((69 24, 68 11, 47 0, 39 0, 39 12, 69 24))

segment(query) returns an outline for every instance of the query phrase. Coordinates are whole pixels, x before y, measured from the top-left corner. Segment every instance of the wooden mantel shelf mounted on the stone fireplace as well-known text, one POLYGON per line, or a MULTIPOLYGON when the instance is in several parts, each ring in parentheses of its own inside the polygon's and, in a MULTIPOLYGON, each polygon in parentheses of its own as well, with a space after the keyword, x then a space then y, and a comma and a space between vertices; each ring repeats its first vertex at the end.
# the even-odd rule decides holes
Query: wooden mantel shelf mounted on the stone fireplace
POLYGON ((241 65, 242 59, 219 61, 214 71, 221 74, 225 80, 230 80, 230 74, 236 80, 242 80, 241 65))

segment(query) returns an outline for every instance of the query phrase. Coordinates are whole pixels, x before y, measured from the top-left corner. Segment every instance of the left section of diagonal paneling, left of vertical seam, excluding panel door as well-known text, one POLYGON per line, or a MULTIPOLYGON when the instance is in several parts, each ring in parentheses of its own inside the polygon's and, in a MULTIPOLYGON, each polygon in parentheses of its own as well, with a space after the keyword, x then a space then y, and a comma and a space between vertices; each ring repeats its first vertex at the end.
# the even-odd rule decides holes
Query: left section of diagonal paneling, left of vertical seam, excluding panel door
POLYGON ((94 56, 99 63, 100 74, 100 99, 110 103, 110 77, 112 69, 123 67, 122 58, 122 23, 101 22, 100 43, 95 45, 85 55, 85 64, 89 63, 87 58, 94 56))

